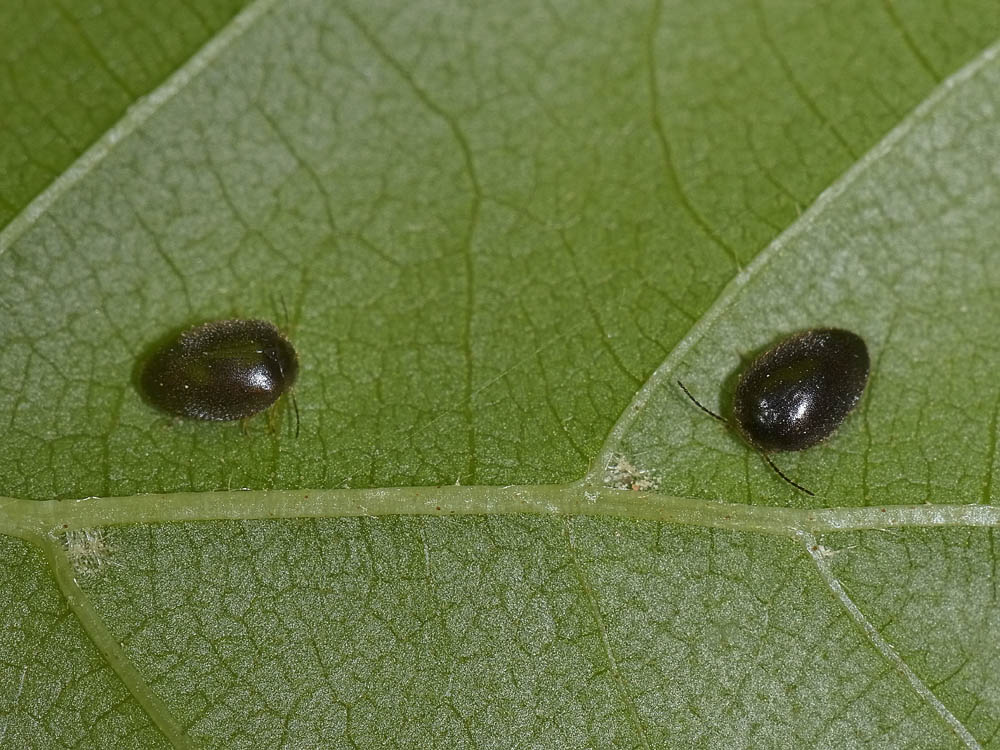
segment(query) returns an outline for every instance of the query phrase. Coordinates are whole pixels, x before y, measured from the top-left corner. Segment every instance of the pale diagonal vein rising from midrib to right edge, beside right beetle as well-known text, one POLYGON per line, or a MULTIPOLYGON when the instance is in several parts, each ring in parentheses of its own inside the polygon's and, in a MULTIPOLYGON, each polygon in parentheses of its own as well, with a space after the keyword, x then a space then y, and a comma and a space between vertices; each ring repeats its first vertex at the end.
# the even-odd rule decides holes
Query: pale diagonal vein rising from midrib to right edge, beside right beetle
POLYGON ((982 54, 972 60, 961 70, 945 79, 931 94, 924 99, 910 114, 904 117, 900 123, 893 128, 885 138, 876 144, 867 154, 848 169, 830 187, 820 193, 820 196, 796 221, 778 235, 767 247, 739 273, 737 273, 723 288, 715 303, 705 311, 704 315, 698 319, 687 336, 681 339, 673 351, 667 356, 656 371, 649 376, 645 385, 639 389, 625 410, 619 416, 618 421, 608 433, 600 453, 590 466, 587 473, 587 480, 590 482, 600 481, 605 467, 611 462, 619 450, 624 435, 631 429, 636 418, 642 413, 646 404, 660 388, 668 387, 674 379, 673 373, 687 356, 688 352, 708 333, 730 307, 739 298, 743 288, 754 279, 758 273, 765 269, 771 261, 775 259, 784 249, 797 239, 800 235, 807 234, 813 224, 823 215, 831 204, 840 199, 843 195, 873 164, 885 158, 887 154, 899 145, 909 132, 918 123, 928 117, 934 109, 944 102, 951 94, 952 90, 961 83, 974 78, 997 55, 1000 54, 1000 42, 996 42, 982 54))

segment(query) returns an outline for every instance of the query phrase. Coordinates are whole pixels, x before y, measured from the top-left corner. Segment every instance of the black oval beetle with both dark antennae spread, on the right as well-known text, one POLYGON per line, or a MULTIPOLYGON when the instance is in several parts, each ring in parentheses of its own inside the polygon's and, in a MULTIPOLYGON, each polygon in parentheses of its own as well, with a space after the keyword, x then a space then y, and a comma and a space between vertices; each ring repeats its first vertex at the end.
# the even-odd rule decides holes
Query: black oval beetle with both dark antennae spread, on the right
POLYGON ((677 384, 702 411, 733 427, 778 476, 812 495, 767 454, 804 450, 830 437, 861 399, 869 367, 868 347, 856 333, 816 328, 789 336, 750 363, 736 386, 732 420, 677 384))

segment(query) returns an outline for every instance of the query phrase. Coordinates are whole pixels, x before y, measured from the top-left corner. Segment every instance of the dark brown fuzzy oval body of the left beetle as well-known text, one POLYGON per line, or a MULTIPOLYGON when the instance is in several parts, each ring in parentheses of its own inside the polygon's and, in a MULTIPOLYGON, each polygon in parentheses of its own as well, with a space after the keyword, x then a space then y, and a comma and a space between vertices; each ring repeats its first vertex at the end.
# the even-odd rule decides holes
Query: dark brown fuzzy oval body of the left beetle
POLYGON ((228 421, 264 411, 295 383, 291 342, 265 320, 217 320, 189 328, 142 369, 149 401, 180 417, 228 421))

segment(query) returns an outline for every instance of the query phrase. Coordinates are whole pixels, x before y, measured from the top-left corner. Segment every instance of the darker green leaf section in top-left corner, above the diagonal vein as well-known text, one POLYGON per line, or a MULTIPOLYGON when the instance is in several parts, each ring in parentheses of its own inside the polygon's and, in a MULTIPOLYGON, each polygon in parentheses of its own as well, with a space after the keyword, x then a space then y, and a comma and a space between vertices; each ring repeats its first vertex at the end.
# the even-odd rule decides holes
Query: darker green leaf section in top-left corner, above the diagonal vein
POLYGON ((182 65, 238 0, 5 0, 0 5, 0 226, 182 65))

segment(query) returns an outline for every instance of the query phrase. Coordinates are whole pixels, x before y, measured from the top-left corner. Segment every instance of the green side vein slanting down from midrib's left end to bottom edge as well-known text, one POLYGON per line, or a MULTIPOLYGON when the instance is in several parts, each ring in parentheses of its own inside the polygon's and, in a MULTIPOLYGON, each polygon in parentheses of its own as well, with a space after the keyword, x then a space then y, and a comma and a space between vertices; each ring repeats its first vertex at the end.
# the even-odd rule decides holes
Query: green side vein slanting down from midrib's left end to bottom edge
POLYGON ((191 738, 177 723, 166 704, 153 692, 135 664, 126 656, 123 644, 108 630, 104 620, 97 614, 93 602, 80 588, 80 584, 76 582, 75 571, 58 541, 59 538, 54 534, 49 534, 37 541, 45 552, 49 567, 55 575, 56 584, 66 598, 69 608, 79 619, 94 646, 121 679, 122 684, 128 688, 132 697, 142 706, 146 715, 170 744, 178 750, 194 750, 195 744, 191 738))

